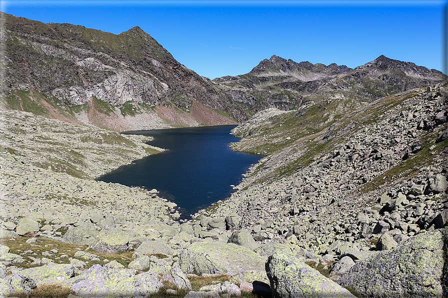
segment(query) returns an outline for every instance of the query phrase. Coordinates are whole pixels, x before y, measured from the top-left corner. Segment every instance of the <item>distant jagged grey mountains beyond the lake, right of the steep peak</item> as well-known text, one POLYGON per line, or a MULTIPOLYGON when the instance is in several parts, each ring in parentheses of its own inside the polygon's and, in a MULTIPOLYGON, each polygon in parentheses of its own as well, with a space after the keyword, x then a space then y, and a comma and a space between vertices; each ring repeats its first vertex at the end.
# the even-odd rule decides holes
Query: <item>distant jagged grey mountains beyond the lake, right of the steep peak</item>
POLYGON ((383 96, 446 80, 441 71, 384 55, 355 69, 335 63, 297 63, 273 55, 249 73, 214 79, 236 102, 252 111, 319 106, 319 111, 303 112, 308 116, 324 114, 326 118, 319 125, 383 96))

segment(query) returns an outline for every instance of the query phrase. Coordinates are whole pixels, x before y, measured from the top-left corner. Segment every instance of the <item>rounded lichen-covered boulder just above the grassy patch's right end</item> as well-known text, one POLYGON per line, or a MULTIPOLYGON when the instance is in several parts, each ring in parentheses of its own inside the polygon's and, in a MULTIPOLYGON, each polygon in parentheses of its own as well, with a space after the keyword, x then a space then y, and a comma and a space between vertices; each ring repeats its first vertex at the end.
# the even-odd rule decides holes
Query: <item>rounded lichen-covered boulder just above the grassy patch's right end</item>
POLYGON ((92 249, 97 252, 115 253, 126 251, 129 244, 129 235, 116 227, 106 225, 98 235, 98 240, 92 249))

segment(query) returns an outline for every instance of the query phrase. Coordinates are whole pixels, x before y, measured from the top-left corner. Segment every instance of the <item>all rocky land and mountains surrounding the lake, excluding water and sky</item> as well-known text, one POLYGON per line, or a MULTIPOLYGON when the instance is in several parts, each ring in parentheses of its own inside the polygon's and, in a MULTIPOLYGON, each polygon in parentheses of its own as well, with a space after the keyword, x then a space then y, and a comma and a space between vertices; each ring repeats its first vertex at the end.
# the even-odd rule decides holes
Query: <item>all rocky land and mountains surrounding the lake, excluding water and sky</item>
POLYGON ((273 55, 209 80, 138 27, 1 17, 0 295, 448 296, 442 72, 273 55), (119 130, 229 122, 265 157, 192 220, 95 180, 163 151, 119 130))

